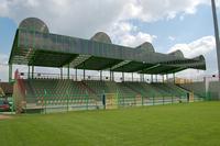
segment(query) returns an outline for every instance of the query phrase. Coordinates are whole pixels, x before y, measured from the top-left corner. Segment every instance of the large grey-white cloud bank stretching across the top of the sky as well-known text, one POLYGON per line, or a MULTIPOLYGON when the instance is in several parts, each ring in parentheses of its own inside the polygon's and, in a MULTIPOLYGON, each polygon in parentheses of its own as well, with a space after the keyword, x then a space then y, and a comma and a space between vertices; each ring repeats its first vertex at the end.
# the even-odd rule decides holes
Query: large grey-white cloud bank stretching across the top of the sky
POLYGON ((0 16, 20 22, 28 16, 44 20, 54 33, 90 37, 114 23, 131 19, 153 22, 178 13, 193 14, 209 0, 1 0, 0 16), (162 4, 163 3, 163 4, 162 4))

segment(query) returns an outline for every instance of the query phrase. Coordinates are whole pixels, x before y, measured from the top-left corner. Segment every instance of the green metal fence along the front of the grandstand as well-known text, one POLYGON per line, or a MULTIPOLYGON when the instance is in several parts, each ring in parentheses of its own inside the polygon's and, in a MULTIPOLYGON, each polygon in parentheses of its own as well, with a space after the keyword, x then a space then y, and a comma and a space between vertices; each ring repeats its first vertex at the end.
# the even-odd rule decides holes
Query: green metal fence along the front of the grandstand
MULTIPOLYGON (((112 96, 111 96, 112 97, 112 96)), ((204 101, 198 98, 195 101, 204 101)), ((117 104, 117 108, 143 106, 143 105, 160 105, 187 103, 187 94, 120 94, 120 93, 103 93, 103 94, 54 94, 47 90, 44 93, 28 96, 25 98, 25 113, 52 113, 52 112, 68 112, 78 110, 102 110, 106 104, 117 104), (105 103, 109 94, 116 94, 117 102, 105 103)), ((116 108, 112 108, 116 109, 116 108)))

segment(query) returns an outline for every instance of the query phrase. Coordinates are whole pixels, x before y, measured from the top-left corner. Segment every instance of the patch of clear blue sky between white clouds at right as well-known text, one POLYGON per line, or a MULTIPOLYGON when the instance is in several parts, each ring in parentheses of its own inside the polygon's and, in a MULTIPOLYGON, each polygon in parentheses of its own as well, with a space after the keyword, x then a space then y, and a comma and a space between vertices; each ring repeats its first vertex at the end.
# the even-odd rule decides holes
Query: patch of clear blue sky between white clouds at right
POLYGON ((177 15, 173 20, 160 20, 144 23, 140 20, 130 21, 140 31, 158 36, 153 42, 157 52, 166 53, 168 48, 178 43, 190 43, 202 36, 213 35, 213 22, 210 5, 200 5, 196 14, 186 15, 180 20, 177 15), (170 41, 168 36, 175 37, 170 41))

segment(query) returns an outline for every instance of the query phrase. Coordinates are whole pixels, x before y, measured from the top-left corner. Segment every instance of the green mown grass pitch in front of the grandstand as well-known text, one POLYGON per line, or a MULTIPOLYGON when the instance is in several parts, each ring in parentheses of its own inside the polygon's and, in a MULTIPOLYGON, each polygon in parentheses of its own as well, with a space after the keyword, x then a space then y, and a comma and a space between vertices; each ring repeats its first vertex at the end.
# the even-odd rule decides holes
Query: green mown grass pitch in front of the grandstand
POLYGON ((15 115, 0 146, 219 146, 220 102, 15 115))

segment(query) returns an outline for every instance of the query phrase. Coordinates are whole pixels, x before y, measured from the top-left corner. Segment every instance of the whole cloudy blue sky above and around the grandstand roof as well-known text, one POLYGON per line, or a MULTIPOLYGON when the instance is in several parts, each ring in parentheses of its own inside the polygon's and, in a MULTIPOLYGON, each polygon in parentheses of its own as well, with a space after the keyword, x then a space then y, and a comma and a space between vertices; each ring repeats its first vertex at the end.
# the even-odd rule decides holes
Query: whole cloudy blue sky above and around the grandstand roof
MULTIPOLYGON (((220 1, 217 0, 218 16, 220 1)), ((217 72, 210 0, 0 0, 0 79, 8 79, 8 63, 19 23, 29 16, 43 20, 50 32, 90 38, 107 32, 114 44, 138 46, 151 42, 156 52, 182 49, 185 57, 205 55, 207 71, 217 72)), ((219 18, 220 20, 220 18, 219 18)))

